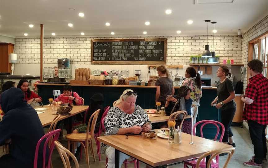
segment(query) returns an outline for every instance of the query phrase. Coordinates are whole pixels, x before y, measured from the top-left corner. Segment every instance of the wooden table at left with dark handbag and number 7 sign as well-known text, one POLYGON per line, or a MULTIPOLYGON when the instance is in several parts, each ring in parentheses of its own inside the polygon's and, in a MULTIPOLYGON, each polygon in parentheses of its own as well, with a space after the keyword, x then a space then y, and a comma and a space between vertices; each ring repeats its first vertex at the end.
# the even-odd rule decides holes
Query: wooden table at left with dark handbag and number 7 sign
MULTIPOLYGON (((88 107, 89 106, 73 106, 73 109, 70 112, 70 115, 60 116, 59 121, 65 119, 65 118, 68 118, 68 117, 72 117, 78 113, 82 113, 82 112, 86 111, 88 107)), ((40 108, 40 107, 38 107, 38 108, 40 108)), ((49 107, 47 105, 45 105, 43 108, 49 108, 49 107)), ((51 111, 49 109, 40 110, 40 111, 44 111, 44 113, 38 114, 39 119, 42 123, 42 126, 44 127, 44 126, 50 125, 55 117, 54 114, 56 114, 56 111, 51 111)))

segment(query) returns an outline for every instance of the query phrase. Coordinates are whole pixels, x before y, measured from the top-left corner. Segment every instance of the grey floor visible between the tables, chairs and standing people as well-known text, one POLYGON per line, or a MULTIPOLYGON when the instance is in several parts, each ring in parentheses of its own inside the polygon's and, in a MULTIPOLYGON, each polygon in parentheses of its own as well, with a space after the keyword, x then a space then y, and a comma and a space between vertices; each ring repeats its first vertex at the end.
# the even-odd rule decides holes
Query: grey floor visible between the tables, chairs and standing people
MULTIPOLYGON (((232 127, 232 129, 233 129, 233 133, 234 133, 236 150, 235 150, 234 156, 232 157, 232 159, 228 165, 228 168, 246 168, 246 166, 243 166, 243 161, 248 161, 251 158, 251 156, 253 156, 253 145, 251 144, 249 134, 245 129, 240 128, 240 127, 232 127)), ((65 139, 63 139, 61 141, 61 143, 64 146, 67 146, 67 141, 65 139)), ((95 156, 97 159, 95 141, 93 143, 93 147, 94 147, 94 152, 95 152, 95 156)), ((2 155, 3 155, 3 153, 2 153, 2 148, 1 148, 0 156, 2 156, 2 155)), ((221 164, 220 167, 222 167, 224 165, 225 159, 226 159, 225 156, 220 157, 220 164, 221 164)), ((94 159, 93 159, 92 155, 90 154, 89 160, 90 160, 90 167, 91 168, 97 168, 97 167, 104 168, 105 167, 105 155, 101 155, 101 161, 97 160, 96 162, 94 162, 93 161, 94 159)), ((63 168, 63 164, 61 162, 60 156, 59 156, 58 151, 56 149, 53 152, 52 163, 53 163, 53 168, 63 168)), ((79 162, 79 166, 80 166, 80 168, 87 167, 84 157, 79 162)), ((133 168, 134 164, 128 164, 127 167, 133 168)), ((140 167, 141 168, 145 167, 145 164, 141 163, 140 167)), ((170 166, 170 168, 183 168, 183 164, 178 164, 176 166, 170 166)), ((268 164, 263 164, 263 168, 268 168, 268 164)))

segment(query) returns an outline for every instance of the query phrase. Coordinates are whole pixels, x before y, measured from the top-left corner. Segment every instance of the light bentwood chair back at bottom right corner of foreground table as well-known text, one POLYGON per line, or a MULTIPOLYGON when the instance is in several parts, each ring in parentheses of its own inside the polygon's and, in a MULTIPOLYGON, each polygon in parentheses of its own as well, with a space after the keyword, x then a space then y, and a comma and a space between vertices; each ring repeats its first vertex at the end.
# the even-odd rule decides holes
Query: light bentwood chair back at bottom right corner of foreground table
POLYGON ((223 168, 227 168, 230 160, 231 160, 231 157, 233 156, 234 154, 234 150, 235 148, 226 148, 226 149, 219 149, 219 150, 213 150, 213 151, 210 151, 210 152, 207 152, 207 153, 204 153, 203 155, 201 155, 198 160, 197 160, 197 163, 196 163, 196 168, 199 168, 200 166, 200 162, 205 158, 207 157, 208 155, 211 155, 210 159, 208 160, 208 165, 207 167, 210 167, 210 164, 211 164, 211 161, 214 157, 216 156, 219 156, 219 154, 221 153, 227 153, 228 154, 228 158, 226 159, 225 163, 224 163, 224 166, 223 168))

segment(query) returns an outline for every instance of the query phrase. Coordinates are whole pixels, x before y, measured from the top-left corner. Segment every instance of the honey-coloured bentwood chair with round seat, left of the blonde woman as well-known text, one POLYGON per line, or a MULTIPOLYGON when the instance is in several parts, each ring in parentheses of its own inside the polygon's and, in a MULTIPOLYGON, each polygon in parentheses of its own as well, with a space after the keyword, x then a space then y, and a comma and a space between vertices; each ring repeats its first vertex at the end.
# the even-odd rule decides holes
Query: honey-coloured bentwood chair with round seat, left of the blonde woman
POLYGON ((87 132, 86 133, 72 133, 66 135, 66 139, 68 139, 68 150, 70 150, 70 144, 72 142, 73 146, 73 152, 74 152, 74 146, 76 145, 77 142, 80 142, 82 145, 82 148, 85 149, 85 155, 86 155, 86 162, 87 162, 87 167, 89 168, 89 156, 88 156, 88 146, 90 146, 91 153, 94 157, 94 161, 96 161, 94 151, 93 151, 93 146, 92 146, 92 140, 94 139, 94 130, 97 122, 98 115, 100 113, 101 109, 98 109, 95 111, 91 117, 88 120, 87 124, 87 132), (91 126, 90 126, 90 121, 91 126), (85 142, 85 145, 84 143, 85 142))

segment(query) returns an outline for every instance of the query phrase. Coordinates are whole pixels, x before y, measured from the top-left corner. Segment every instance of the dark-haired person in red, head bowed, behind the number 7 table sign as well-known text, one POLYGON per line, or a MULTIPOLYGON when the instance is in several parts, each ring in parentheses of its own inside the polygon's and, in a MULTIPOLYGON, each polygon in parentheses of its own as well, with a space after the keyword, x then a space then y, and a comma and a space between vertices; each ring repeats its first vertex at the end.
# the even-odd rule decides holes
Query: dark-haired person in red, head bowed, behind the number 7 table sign
POLYGON ((72 86, 71 85, 64 85, 63 86, 63 94, 59 95, 54 100, 55 102, 60 102, 60 104, 65 104, 69 103, 70 105, 82 105, 83 104, 83 99, 76 93, 72 91, 72 86))

